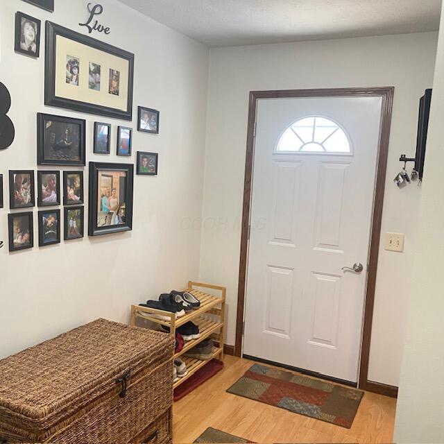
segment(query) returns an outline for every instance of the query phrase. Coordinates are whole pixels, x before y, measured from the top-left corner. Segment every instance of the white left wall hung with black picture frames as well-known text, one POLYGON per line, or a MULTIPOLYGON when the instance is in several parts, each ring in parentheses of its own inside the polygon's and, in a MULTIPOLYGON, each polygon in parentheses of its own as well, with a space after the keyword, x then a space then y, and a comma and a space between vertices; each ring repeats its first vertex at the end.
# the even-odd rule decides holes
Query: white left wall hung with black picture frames
MULTIPOLYGON (((87 18, 87 3, 56 0, 51 14, 21 0, 1 2, 0 80, 12 96, 16 138, 0 151, 6 200, 0 210, 0 240, 6 243, 0 250, 0 357, 94 318, 127 323, 132 303, 198 277, 200 232, 183 230, 182 219, 202 210, 208 50, 115 0, 100 2, 105 12, 99 20, 110 26, 110 35, 94 37, 135 53, 133 153, 160 153, 159 175, 135 176, 132 232, 8 253, 8 170, 37 170, 37 112, 85 118, 87 162, 129 161, 115 155, 117 125, 128 121, 44 106, 43 36, 38 60, 13 51, 15 11, 85 33, 78 24, 87 18), (137 105, 160 110, 160 135, 137 132, 137 105), (111 155, 92 153, 94 121, 112 123, 111 155)), ((85 179, 87 196, 87 168, 85 179)), ((33 211, 37 245, 37 207, 33 211)))

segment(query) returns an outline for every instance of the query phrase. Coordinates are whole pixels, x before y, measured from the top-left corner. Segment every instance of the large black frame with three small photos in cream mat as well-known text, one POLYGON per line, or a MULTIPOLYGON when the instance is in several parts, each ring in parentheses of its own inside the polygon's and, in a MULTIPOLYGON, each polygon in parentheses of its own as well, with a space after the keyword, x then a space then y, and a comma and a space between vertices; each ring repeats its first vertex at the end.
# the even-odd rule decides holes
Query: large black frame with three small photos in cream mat
POLYGON ((45 105, 133 119, 134 54, 46 22, 45 105))

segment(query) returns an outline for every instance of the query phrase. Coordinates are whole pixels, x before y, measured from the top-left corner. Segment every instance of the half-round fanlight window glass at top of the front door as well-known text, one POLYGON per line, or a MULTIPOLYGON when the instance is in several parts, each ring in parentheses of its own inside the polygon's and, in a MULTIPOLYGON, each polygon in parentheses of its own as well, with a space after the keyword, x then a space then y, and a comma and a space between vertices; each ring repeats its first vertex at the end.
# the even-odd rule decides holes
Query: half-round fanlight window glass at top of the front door
POLYGON ((344 130, 325 117, 304 117, 284 131, 276 151, 299 153, 350 154, 350 141, 344 130))

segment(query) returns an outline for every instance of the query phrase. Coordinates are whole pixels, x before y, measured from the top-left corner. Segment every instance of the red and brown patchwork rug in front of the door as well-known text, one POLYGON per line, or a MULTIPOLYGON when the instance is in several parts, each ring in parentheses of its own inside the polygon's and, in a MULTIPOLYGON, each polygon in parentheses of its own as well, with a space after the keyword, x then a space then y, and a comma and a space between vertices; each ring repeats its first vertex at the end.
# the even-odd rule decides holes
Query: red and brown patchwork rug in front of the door
POLYGON ((348 429, 364 396, 356 388, 259 364, 250 367, 227 392, 348 429))

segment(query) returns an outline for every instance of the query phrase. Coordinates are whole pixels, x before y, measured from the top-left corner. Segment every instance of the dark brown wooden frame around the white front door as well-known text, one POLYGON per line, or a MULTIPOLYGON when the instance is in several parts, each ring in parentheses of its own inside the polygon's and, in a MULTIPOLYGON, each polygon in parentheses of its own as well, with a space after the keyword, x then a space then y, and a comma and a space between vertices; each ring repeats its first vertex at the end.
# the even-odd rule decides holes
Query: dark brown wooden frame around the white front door
POLYGON ((255 153, 255 124, 257 101, 259 99, 289 99, 300 97, 382 97, 381 126, 379 132, 377 173, 375 178, 375 195, 373 199, 373 219, 370 235, 370 250, 368 256, 368 275, 366 284, 366 301, 364 307, 364 322, 362 329, 361 356, 359 362, 358 387, 395 397, 398 387, 379 384, 368 380, 368 359, 370 355, 370 339, 372 332, 373 307, 375 303, 375 284, 377 261, 379 255, 379 240, 381 237, 382 207, 384 204, 384 189, 388 157, 388 141, 390 139, 391 113, 395 87, 365 87, 365 88, 328 88, 328 89, 283 89, 271 91, 250 91, 248 105, 248 130, 246 143, 244 203, 242 206, 241 222, 241 253, 239 260, 239 282, 237 291, 237 320, 236 342, 234 356, 242 355, 242 339, 244 336, 244 311, 246 298, 246 273, 248 264, 248 241, 250 237, 250 204, 253 184, 253 159, 255 153))

